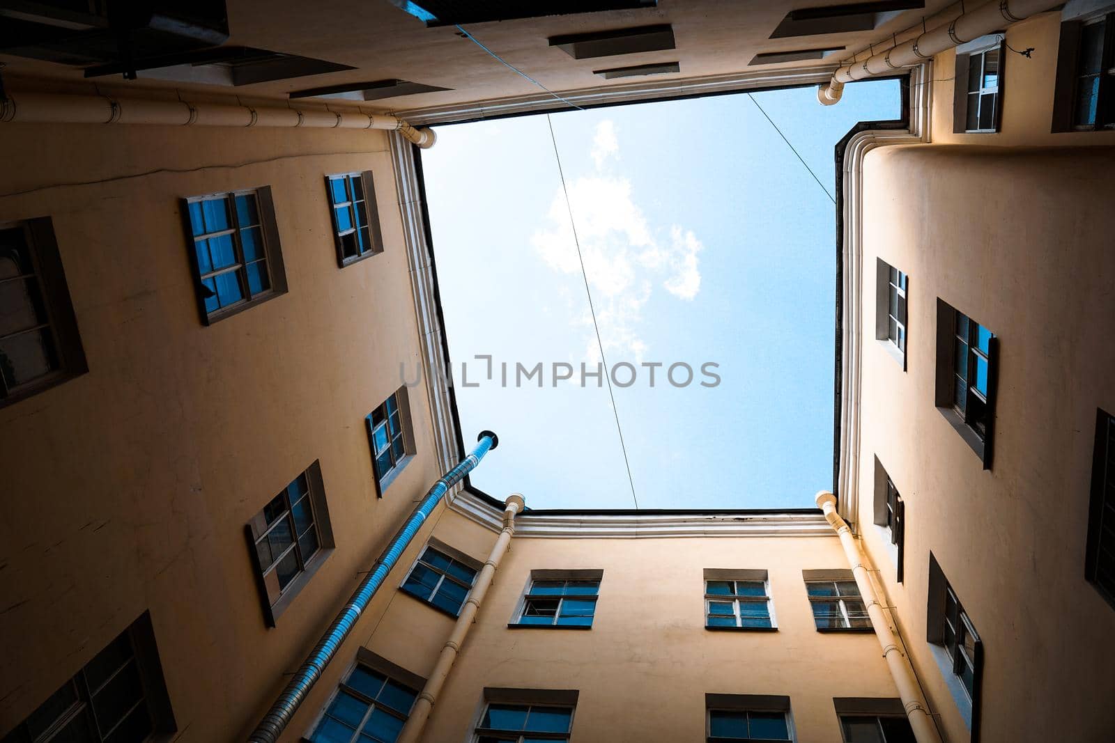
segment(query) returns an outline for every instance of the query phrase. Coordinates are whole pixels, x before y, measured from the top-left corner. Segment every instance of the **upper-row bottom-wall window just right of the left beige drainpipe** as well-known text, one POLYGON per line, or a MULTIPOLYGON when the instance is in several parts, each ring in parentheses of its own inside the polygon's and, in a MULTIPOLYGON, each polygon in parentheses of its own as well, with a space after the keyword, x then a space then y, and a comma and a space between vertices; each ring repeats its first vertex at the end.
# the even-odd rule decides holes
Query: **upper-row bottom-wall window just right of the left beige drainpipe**
POLYGON ((508 626, 591 627, 602 575, 600 570, 535 570, 515 623, 508 626))

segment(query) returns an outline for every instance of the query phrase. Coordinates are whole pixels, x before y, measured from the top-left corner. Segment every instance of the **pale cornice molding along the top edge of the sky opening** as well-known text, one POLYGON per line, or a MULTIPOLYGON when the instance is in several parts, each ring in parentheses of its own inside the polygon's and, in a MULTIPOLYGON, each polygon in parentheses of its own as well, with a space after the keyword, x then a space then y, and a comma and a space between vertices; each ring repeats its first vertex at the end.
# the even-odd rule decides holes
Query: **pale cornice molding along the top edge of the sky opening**
MULTIPOLYGON (((641 80, 627 85, 600 86, 580 90, 562 90, 561 97, 581 106, 602 106, 649 100, 666 100, 688 96, 738 92, 762 88, 788 88, 803 85, 822 85, 832 79, 836 66, 792 67, 783 69, 758 69, 706 77, 689 77, 666 80, 641 80)), ((507 98, 489 98, 446 106, 408 108, 392 111, 392 116, 406 119, 414 126, 472 121, 474 119, 515 114, 568 110, 569 106, 546 92, 507 98)))

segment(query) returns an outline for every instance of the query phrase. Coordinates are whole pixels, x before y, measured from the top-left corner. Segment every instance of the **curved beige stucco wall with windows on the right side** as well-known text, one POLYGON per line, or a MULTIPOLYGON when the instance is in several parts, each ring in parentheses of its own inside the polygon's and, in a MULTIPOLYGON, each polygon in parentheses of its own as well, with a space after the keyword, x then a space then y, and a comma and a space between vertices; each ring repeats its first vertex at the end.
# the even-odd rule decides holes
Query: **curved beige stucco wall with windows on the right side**
POLYGON ((1115 612, 1084 551, 1096 408, 1115 409, 1113 168, 1092 147, 864 163, 860 521, 949 741, 968 734, 925 642, 930 550, 985 644, 981 740, 1109 740, 1115 612), (872 340, 876 256, 910 276, 906 372, 872 340), (990 471, 933 407, 937 297, 1000 341, 990 471), (902 585, 871 526, 875 456, 906 501, 902 585))

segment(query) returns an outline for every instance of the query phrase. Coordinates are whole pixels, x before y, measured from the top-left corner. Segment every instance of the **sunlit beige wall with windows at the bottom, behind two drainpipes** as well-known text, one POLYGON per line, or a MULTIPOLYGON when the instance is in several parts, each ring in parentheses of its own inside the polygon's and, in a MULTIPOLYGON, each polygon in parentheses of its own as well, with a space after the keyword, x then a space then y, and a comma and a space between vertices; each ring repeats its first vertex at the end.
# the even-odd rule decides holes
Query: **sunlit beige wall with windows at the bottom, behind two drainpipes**
MULTIPOLYGON (((494 532, 476 531, 453 511, 435 536, 479 560, 495 541, 494 532)), ((578 690, 578 743, 704 741, 707 692, 786 694, 796 740, 837 743, 833 697, 896 692, 873 634, 816 630, 802 579, 802 570, 813 568, 847 568, 835 534, 516 537, 423 740, 472 740, 483 688, 495 686, 578 690), (603 570, 591 630, 507 627, 531 570, 574 568, 603 570), (705 629, 705 568, 767 569, 778 630, 705 629)), ((367 645, 426 676, 452 626, 450 618, 398 594, 367 645)))

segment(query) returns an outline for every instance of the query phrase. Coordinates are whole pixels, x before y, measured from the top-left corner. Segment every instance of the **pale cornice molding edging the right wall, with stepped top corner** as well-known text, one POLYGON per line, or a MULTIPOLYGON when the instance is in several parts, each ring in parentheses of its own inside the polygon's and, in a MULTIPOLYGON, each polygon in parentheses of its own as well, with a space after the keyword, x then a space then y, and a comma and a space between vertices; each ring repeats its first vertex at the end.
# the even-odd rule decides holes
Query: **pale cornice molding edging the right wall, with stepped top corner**
POLYGON ((931 140, 933 66, 927 60, 910 69, 910 127, 865 129, 844 150, 843 284, 841 327, 841 441, 838 512, 853 528, 860 512, 860 397, 863 350, 863 158, 876 147, 931 140))

